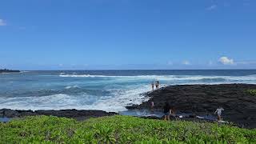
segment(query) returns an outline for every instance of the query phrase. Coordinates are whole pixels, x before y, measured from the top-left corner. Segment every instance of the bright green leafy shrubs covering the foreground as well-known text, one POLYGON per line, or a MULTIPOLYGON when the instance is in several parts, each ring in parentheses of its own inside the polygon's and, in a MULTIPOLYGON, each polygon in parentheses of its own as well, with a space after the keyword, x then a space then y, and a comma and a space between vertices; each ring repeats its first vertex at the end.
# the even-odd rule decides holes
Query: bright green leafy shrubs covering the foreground
POLYGON ((77 122, 49 116, 0 123, 0 143, 256 143, 256 130, 212 123, 111 116, 77 122))

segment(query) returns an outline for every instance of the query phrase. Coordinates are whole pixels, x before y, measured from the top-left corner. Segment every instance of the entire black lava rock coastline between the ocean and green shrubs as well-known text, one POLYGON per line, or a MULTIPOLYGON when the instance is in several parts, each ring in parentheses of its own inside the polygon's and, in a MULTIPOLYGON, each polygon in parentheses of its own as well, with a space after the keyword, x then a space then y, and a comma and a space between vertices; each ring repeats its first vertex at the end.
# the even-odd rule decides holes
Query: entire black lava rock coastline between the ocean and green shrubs
MULTIPOLYGON (((150 103, 154 102, 154 110, 162 110, 165 102, 170 102, 176 114, 189 114, 180 118, 192 122, 216 122, 200 119, 197 116, 214 116, 218 106, 224 108, 222 117, 235 126, 256 128, 256 97, 246 93, 246 90, 256 89, 252 84, 219 84, 219 85, 175 85, 165 86, 160 90, 146 92, 149 99, 140 105, 126 106, 129 110, 150 110, 150 103)), ((98 118, 115 115, 115 112, 102 110, 0 110, 0 117, 22 118, 35 115, 53 115, 57 117, 74 118, 83 121, 88 118, 98 118)), ((153 115, 137 115, 146 119, 162 119, 153 115)), ((174 118, 173 118, 174 120, 174 118)))

